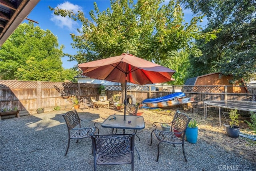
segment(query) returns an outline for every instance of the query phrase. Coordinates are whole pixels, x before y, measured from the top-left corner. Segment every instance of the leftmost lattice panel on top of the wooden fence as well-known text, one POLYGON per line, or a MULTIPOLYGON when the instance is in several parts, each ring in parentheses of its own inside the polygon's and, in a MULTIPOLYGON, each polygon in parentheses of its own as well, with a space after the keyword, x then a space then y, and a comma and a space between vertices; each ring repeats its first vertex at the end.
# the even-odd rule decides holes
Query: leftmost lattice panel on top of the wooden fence
POLYGON ((1 80, 0 88, 37 88, 37 81, 1 80))

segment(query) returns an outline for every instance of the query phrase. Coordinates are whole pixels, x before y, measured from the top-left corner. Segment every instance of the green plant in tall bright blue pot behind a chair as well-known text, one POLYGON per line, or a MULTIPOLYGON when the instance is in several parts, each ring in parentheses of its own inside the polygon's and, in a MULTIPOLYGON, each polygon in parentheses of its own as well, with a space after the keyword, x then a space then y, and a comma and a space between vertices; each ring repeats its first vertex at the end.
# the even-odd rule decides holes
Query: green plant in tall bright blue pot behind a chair
POLYGON ((196 143, 198 135, 198 123, 195 119, 190 120, 186 129, 186 140, 190 143, 196 143))

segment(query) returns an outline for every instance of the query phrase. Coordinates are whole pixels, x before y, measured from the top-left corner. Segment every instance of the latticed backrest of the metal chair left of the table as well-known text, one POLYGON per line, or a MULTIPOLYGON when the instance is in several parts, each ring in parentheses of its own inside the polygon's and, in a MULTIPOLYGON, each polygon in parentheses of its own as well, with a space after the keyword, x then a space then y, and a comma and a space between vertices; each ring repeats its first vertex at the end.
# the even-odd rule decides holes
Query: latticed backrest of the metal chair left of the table
POLYGON ((71 130, 75 128, 78 124, 81 127, 80 124, 80 118, 78 116, 78 113, 76 110, 70 110, 66 112, 64 115, 62 115, 66 121, 66 124, 68 126, 68 130, 71 130))

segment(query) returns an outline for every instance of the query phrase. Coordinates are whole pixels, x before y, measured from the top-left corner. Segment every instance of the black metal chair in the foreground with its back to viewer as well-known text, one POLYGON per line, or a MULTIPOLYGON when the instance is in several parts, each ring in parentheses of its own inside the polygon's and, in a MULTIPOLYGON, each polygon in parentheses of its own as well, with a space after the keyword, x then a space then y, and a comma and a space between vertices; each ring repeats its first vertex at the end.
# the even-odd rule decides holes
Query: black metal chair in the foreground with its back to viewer
POLYGON ((92 135, 94 171, 97 165, 132 164, 134 171, 134 134, 92 135))

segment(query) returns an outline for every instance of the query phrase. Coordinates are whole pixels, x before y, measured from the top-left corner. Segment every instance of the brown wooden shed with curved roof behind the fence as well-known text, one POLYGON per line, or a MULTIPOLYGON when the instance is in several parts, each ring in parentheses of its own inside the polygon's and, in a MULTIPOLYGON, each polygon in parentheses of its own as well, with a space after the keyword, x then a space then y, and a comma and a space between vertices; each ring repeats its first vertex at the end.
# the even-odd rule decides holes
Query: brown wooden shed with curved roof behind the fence
POLYGON ((232 79, 232 75, 225 76, 221 73, 210 73, 187 79, 185 86, 221 86, 222 91, 224 91, 224 86, 228 86, 229 93, 248 92, 246 87, 240 87, 240 85, 245 85, 245 83, 242 83, 243 79, 236 81, 235 84, 230 84, 232 79))

